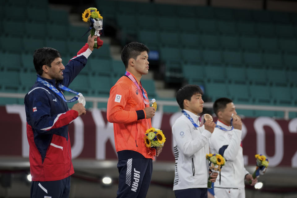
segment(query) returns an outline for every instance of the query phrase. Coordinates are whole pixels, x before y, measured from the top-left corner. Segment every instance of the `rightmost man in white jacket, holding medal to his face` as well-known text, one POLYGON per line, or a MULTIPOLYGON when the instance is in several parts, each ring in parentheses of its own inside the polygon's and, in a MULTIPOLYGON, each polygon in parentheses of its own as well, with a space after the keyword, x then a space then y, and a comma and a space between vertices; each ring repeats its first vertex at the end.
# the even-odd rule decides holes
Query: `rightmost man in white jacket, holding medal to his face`
POLYGON ((226 164, 214 183, 216 198, 245 198, 244 179, 252 180, 252 186, 257 179, 244 168, 241 143, 242 122, 235 111, 235 105, 229 98, 219 98, 213 103, 213 112, 217 115, 217 126, 210 138, 210 152, 221 154, 226 164))

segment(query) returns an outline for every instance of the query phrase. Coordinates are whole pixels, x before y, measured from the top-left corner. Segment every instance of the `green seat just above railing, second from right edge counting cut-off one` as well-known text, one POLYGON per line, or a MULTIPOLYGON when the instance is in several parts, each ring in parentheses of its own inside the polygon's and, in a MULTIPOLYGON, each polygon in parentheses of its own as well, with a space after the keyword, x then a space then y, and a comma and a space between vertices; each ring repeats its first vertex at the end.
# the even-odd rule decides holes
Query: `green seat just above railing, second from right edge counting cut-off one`
POLYGON ((272 86, 270 88, 271 96, 275 105, 280 106, 293 106, 295 105, 291 96, 290 87, 272 86))

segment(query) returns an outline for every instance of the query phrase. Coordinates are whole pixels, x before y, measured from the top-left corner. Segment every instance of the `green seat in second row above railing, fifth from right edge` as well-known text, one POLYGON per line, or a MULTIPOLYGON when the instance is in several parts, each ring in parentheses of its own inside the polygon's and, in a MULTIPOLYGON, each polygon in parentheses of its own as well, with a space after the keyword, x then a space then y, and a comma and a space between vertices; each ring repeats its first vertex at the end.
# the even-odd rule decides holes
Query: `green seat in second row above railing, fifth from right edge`
POLYGON ((209 82, 219 82, 219 83, 225 83, 226 82, 226 70, 224 67, 220 66, 207 66, 204 67, 205 71, 205 78, 209 82))

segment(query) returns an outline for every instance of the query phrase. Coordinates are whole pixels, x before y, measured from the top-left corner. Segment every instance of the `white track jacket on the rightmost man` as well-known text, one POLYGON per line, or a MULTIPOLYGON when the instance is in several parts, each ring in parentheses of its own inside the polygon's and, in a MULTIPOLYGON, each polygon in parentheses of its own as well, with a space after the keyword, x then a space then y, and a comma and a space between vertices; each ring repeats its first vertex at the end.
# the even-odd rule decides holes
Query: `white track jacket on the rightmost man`
MULTIPOLYGON (((230 126, 219 120, 217 125, 227 130, 231 129, 230 126)), ((224 131, 217 127, 214 129, 210 138, 210 152, 221 154, 226 160, 226 164, 221 170, 221 184, 220 176, 218 175, 214 187, 244 188, 244 177, 249 173, 244 168, 241 133, 242 131, 238 129, 231 131, 224 131)))

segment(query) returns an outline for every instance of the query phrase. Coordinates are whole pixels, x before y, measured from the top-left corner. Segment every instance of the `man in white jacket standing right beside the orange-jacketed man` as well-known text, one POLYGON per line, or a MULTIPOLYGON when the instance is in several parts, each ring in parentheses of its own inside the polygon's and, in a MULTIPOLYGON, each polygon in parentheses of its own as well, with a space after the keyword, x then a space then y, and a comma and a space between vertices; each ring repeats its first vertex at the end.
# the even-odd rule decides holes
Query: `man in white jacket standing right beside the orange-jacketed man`
MULTIPOLYGON (((179 89, 176 100, 182 111, 172 126, 174 140, 175 176, 173 190, 176 198, 207 198, 209 138, 215 123, 208 120, 199 127, 203 111, 202 90, 196 85, 179 89)), ((215 182, 217 173, 211 176, 215 182)))

